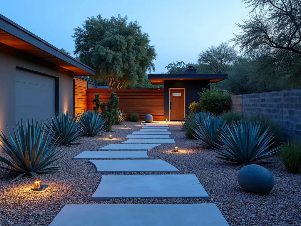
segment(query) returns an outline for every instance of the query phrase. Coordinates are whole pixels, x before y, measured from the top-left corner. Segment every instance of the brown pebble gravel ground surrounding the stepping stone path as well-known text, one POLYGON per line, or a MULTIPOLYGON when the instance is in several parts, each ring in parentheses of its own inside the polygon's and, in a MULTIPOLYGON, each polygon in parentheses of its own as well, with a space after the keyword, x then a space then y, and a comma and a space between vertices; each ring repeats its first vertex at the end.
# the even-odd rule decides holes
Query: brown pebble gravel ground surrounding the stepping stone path
MULTIPOLYGON (((288 173, 280 163, 265 165, 275 178, 275 187, 268 195, 247 193, 237 183, 237 166, 217 159, 212 150, 199 150, 193 140, 184 137, 178 122, 168 122, 170 138, 175 139, 175 144, 162 144, 148 151, 147 155, 150 159, 162 159, 174 165, 180 174, 196 174, 209 195, 208 201, 114 199, 92 202, 91 196, 100 183, 101 174, 96 173, 95 166, 88 163, 88 159, 72 158, 85 150, 96 151, 110 143, 121 143, 127 140, 126 135, 141 127, 140 122, 126 124, 127 129, 113 126, 115 132, 104 133, 102 137, 85 137, 78 141, 81 144, 63 147, 67 154, 61 164, 63 170, 39 174, 42 184, 48 185, 45 190, 30 190, 34 180, 30 176, 14 182, 10 182, 12 177, 1 179, 0 225, 48 225, 65 204, 215 203, 229 225, 301 226, 301 174, 288 173), (109 134, 113 135, 113 140, 108 140, 109 134), (174 146, 178 146, 179 152, 171 152, 174 146)), ((5 153, 2 155, 7 157, 5 153)), ((0 169, 0 175, 6 173, 0 169)))

